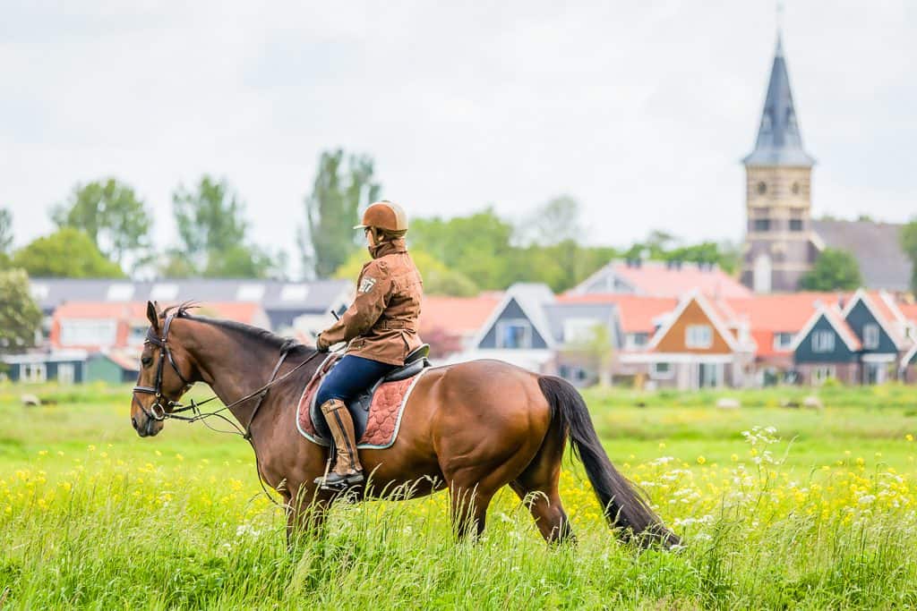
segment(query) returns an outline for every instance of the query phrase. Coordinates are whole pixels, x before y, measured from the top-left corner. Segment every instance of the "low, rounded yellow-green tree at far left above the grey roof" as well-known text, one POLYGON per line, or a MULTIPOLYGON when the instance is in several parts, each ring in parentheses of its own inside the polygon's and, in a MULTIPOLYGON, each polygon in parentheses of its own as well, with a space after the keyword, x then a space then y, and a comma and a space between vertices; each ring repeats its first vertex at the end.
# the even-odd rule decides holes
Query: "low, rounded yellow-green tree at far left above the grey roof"
POLYGON ((124 278, 121 267, 106 259, 88 235, 73 227, 63 227, 17 250, 13 267, 38 277, 124 278))

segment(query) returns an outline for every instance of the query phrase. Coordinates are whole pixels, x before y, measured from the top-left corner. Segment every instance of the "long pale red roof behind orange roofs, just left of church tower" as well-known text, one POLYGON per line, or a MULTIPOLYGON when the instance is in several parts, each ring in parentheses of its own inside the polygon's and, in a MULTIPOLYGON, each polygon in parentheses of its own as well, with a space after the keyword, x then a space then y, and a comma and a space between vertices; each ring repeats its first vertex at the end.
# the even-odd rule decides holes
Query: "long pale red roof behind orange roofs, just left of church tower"
POLYGON ((713 298, 749 297, 752 292, 719 267, 702 268, 685 263, 681 267, 669 267, 659 261, 645 261, 640 266, 625 262, 613 263, 614 273, 626 279, 644 295, 674 297, 700 291, 713 298))

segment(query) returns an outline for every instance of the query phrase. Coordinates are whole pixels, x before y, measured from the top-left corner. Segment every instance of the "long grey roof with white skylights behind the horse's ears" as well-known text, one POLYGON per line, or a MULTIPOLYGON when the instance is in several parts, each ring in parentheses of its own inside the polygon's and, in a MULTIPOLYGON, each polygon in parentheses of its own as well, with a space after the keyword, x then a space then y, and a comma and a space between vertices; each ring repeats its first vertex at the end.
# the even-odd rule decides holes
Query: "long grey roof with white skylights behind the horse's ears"
POLYGON ((116 280, 94 278, 31 278, 32 293, 43 311, 67 301, 251 301, 269 314, 287 311, 324 312, 352 287, 348 280, 287 282, 257 279, 116 280))

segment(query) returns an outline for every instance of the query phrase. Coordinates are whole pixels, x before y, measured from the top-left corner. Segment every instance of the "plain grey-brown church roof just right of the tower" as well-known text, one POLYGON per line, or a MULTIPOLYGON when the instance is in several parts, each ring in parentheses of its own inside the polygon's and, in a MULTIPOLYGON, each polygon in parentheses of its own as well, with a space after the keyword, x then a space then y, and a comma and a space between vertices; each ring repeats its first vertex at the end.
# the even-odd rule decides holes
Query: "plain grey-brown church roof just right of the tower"
POLYGON ((871 221, 812 221, 812 233, 817 236, 816 246, 852 253, 867 288, 904 291, 911 286, 911 260, 901 249, 902 226, 871 221))

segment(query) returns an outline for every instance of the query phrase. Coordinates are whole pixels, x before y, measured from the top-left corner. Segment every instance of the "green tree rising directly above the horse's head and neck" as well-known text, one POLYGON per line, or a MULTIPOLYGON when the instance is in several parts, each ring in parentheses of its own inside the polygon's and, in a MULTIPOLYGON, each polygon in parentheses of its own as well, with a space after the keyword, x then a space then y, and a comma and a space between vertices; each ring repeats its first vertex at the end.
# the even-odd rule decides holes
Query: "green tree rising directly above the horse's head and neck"
POLYGON ((245 204, 226 180, 204 176, 193 190, 179 186, 172 210, 181 245, 172 249, 160 272, 176 278, 264 278, 273 261, 247 243, 245 204))

